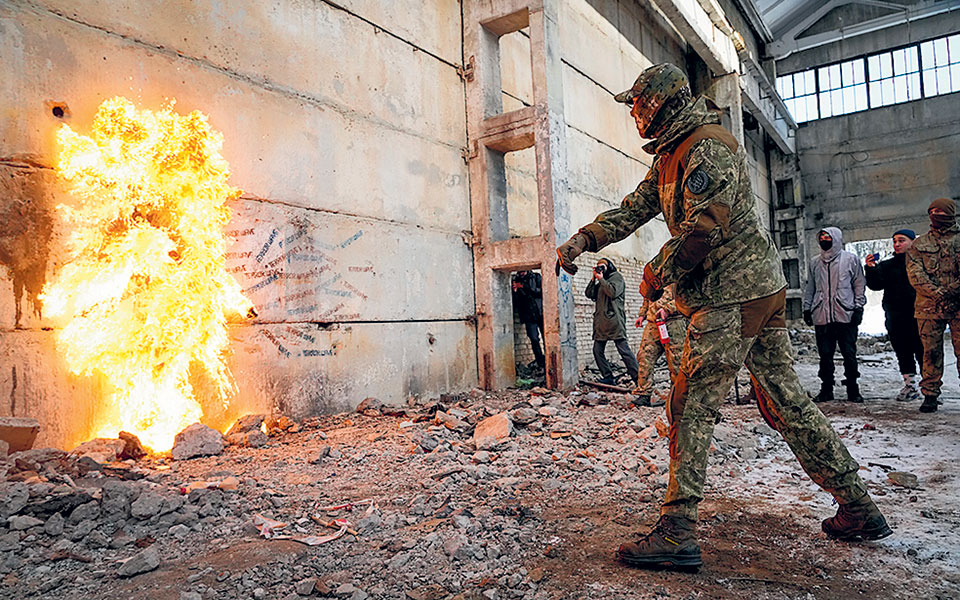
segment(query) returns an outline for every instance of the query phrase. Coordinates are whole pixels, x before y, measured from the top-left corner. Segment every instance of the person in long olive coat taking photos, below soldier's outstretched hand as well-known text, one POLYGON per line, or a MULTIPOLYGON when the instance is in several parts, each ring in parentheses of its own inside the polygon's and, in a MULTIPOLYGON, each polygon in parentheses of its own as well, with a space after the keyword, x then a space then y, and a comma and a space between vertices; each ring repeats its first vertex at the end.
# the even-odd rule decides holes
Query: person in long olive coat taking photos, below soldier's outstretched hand
POLYGON ((593 309, 593 358, 600 369, 600 383, 607 385, 616 384, 613 368, 605 354, 607 342, 610 341, 616 344, 617 352, 627 367, 630 381, 637 382, 637 357, 627 343, 627 311, 624 306, 626 289, 623 275, 617 271, 613 262, 608 258, 601 258, 593 268, 593 278, 584 290, 587 298, 596 302, 593 309))

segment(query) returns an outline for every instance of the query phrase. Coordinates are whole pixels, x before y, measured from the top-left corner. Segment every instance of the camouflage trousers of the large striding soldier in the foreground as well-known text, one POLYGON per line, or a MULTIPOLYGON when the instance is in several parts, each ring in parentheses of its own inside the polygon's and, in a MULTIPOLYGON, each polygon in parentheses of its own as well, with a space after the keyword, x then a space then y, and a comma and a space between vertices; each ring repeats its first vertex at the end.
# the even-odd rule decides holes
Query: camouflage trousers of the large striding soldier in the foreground
POLYGON ((781 290, 693 314, 680 375, 667 405, 670 481, 663 514, 696 520, 718 409, 744 363, 757 389, 761 413, 786 440, 807 475, 841 504, 866 495, 857 462, 800 386, 793 369, 785 298, 781 290))

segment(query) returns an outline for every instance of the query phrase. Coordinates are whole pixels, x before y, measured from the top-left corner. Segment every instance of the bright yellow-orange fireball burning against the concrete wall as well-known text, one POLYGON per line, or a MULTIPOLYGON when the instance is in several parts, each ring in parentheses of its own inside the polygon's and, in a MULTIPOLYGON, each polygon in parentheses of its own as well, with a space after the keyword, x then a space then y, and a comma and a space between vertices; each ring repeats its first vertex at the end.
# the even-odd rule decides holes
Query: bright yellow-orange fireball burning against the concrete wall
POLYGON ((109 397, 94 435, 138 435, 172 447, 200 420, 197 377, 220 402, 236 391, 225 364, 227 320, 253 316, 224 265, 230 187, 223 136, 199 111, 100 105, 89 135, 63 125, 58 174, 76 198, 60 205, 67 260, 43 292, 74 374, 101 373, 109 397))

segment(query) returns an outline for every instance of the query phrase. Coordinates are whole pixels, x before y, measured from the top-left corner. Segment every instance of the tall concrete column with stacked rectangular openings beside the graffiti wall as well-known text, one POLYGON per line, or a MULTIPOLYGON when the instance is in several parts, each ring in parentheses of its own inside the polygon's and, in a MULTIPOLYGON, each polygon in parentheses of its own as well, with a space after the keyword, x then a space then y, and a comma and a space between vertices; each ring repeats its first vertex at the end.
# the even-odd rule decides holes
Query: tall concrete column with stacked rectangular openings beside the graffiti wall
POLYGON ((506 387, 516 378, 509 273, 519 269, 540 269, 543 276, 547 385, 564 389, 577 381, 572 282, 554 272, 554 249, 570 233, 558 1, 464 4, 477 360, 486 389, 506 387), (530 35, 533 105, 504 113, 498 40, 524 28, 530 35), (540 235, 508 239, 503 157, 530 147, 537 160, 540 235))

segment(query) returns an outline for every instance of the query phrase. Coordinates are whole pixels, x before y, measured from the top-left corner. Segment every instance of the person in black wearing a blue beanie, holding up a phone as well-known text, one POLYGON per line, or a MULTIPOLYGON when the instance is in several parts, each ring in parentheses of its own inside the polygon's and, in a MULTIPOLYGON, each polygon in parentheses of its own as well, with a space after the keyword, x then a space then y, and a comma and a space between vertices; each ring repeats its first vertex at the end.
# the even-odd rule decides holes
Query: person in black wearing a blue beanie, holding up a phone
POLYGON ((923 365, 923 343, 913 316, 913 303, 917 292, 907 278, 907 250, 917 234, 910 229, 901 229, 893 234, 893 258, 880 261, 876 255, 867 257, 867 287, 883 290, 883 312, 886 314, 887 335, 897 355, 903 389, 897 394, 900 402, 920 399, 917 386, 917 365, 923 365))

